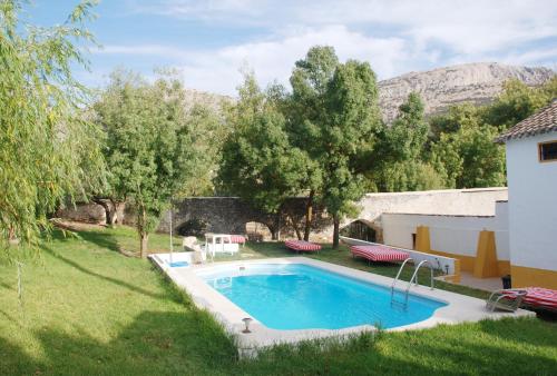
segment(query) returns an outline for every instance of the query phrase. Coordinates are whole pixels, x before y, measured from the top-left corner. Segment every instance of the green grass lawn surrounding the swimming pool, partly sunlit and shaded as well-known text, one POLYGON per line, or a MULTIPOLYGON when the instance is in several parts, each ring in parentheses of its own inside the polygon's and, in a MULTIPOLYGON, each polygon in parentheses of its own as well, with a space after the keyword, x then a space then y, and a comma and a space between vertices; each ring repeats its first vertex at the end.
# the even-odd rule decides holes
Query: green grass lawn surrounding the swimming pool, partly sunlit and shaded
MULTIPOLYGON (((168 248, 167 236, 150 245, 168 248)), ((179 239, 175 240, 179 245, 179 239)), ((480 321, 348 343, 278 346, 252 360, 209 314, 195 308, 136 251, 133 229, 59 234, 23 267, 23 299, 14 266, 0 266, 0 374, 6 375, 555 375, 557 324, 536 318, 480 321)), ((276 244, 246 246, 243 257, 276 257, 276 244)), ((325 261, 392 276, 326 248, 325 261)), ((427 278, 422 277, 422 281, 427 278)), ((442 285, 441 288, 451 288, 442 285)), ((457 287, 460 293, 485 293, 457 287)))

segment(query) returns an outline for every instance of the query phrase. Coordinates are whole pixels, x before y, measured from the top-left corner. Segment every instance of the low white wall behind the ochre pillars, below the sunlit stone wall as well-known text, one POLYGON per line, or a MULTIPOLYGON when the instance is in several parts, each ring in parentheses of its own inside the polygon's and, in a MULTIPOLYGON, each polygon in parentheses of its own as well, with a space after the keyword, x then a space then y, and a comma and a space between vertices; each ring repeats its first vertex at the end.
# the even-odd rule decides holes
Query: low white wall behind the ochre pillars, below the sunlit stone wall
POLYGON ((507 202, 497 202, 496 216, 439 216, 389 214, 381 216, 383 243, 412 248, 412 234, 418 226, 428 226, 431 249, 456 255, 476 256, 481 230, 495 231, 497 258, 509 260, 507 202))

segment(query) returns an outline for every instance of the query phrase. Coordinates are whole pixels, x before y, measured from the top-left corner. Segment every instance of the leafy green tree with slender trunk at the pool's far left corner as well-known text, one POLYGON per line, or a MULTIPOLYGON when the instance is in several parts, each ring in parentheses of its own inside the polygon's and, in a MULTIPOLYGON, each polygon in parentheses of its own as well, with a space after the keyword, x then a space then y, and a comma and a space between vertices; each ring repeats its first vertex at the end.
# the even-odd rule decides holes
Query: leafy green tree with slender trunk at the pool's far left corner
POLYGON ((198 145, 208 142, 211 133, 186 112, 184 101, 177 79, 160 77, 148 83, 116 72, 94 106, 107 135, 110 194, 136 211, 141 257, 170 199, 184 187, 195 187, 199 167, 208 164, 198 145))

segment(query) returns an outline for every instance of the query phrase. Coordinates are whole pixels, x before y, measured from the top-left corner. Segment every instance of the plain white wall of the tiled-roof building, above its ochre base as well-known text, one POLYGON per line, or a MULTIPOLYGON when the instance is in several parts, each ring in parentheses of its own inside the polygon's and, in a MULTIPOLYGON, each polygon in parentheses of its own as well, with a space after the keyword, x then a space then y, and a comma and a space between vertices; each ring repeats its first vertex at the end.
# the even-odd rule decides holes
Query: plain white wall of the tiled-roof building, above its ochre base
POLYGON ((538 142, 557 132, 507 141, 511 264, 557 270, 557 161, 539 162, 538 142))

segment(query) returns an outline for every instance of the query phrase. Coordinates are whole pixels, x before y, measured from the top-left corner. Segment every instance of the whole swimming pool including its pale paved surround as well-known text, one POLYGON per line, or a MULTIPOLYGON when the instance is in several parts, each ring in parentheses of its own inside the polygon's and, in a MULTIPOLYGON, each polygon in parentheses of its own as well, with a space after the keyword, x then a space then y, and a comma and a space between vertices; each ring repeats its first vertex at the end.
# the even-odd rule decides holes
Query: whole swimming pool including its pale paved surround
MULTIPOLYGON (((412 286, 408 314, 395 310, 400 307, 390 310, 390 300, 385 307, 384 293, 390 294, 392 278, 300 256, 187 267, 170 267, 159 255, 149 258, 197 307, 211 313, 235 337, 241 356, 252 356, 258 348, 275 344, 374 332, 375 324, 388 332, 399 332, 536 315, 522 309, 492 313, 486 310, 482 299, 437 288, 431 290, 427 286, 412 286), (287 283, 267 284, 266 279, 277 279, 281 275, 287 283), (254 279, 244 278, 250 276, 254 279), (245 287, 247 285, 251 286, 245 287), (232 295, 244 289, 250 291, 244 297, 245 304, 232 295), (296 295, 291 294, 293 290, 297 290, 296 295), (414 309, 417 304, 419 307, 414 309), (275 323, 274 316, 286 314, 289 316, 281 316, 275 323), (245 333, 246 317, 253 319, 248 333, 245 333)), ((400 288, 405 288, 405 284, 400 288)), ((388 297, 390 299, 390 295, 388 297)))

